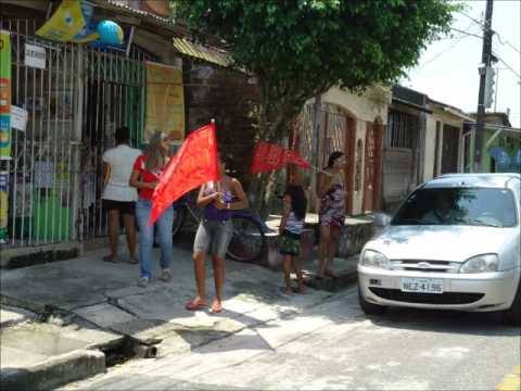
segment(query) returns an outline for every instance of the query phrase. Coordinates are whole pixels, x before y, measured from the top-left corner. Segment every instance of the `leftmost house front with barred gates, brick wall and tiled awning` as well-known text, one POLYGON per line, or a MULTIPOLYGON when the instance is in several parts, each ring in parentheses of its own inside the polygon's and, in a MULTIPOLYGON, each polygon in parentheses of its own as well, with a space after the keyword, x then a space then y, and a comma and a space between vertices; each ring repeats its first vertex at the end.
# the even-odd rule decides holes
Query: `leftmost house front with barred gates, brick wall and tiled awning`
POLYGON ((135 147, 147 141, 149 64, 178 75, 168 81, 182 124, 178 143, 211 118, 228 149, 243 150, 241 140, 221 131, 230 124, 253 131, 247 113, 257 87, 231 68, 226 53, 192 42, 167 9, 157 9, 160 2, 89 3, 93 21, 115 21, 123 28, 123 49, 38 36, 61 2, 0 0, 2 39, 11 47, 11 116, 15 110, 26 115, 22 129, 10 129, 9 155, 0 159, 2 262, 11 250, 16 256, 49 251, 52 257, 58 248, 82 251, 99 238, 104 243, 101 157, 119 126, 130 128, 135 147), (29 61, 27 48, 43 56, 39 65, 29 61), (238 100, 238 91, 247 99, 238 100))

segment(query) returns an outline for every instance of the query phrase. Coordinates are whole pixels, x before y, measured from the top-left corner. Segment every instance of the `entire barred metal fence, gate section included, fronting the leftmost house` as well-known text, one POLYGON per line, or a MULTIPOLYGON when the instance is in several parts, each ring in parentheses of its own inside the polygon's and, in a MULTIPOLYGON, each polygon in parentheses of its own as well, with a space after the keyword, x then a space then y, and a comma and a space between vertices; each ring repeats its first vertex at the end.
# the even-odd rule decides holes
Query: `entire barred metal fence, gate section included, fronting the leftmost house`
POLYGON ((127 56, 38 39, 39 25, 0 20, 11 33, 12 105, 28 113, 26 129, 12 129, 12 160, 0 162, 9 173, 9 247, 105 235, 102 155, 118 126, 140 146, 144 61, 156 61, 135 46, 127 56), (25 43, 46 49, 43 70, 26 65, 25 43))

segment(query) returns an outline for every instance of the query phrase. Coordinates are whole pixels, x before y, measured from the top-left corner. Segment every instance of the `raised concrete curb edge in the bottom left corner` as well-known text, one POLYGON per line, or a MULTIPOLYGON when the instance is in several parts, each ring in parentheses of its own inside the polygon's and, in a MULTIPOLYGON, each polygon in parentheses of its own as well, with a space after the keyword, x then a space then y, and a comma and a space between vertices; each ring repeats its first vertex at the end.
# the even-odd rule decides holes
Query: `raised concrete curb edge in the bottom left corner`
POLYGON ((1 369, 0 387, 2 390, 49 390, 101 373, 105 373, 102 352, 77 350, 27 368, 1 369))

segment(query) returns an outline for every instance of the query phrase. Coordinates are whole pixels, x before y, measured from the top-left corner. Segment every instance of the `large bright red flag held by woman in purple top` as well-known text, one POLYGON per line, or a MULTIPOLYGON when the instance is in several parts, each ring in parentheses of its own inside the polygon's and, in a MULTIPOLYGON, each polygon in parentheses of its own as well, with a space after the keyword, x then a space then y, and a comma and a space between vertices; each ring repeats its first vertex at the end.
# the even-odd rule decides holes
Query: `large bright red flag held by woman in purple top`
POLYGON ((152 197, 149 225, 182 194, 209 180, 219 180, 214 122, 192 131, 170 157, 152 197))

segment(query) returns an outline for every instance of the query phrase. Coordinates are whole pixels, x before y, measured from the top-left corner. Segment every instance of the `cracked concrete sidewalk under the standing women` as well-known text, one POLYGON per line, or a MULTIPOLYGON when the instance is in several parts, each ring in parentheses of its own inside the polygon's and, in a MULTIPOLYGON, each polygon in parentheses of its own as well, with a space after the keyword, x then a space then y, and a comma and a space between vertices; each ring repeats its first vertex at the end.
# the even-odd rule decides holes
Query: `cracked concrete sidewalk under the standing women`
MULTIPOLYGON (((103 371, 106 362, 118 356, 186 352, 303 313, 332 294, 308 289, 306 294, 284 295, 281 273, 227 261, 225 311, 189 312, 185 303, 195 295, 189 251, 175 249, 169 282, 157 279, 155 262, 155 276, 144 289, 136 285, 138 265, 103 262, 105 252, 2 270, 2 388, 48 389, 103 371)), ((206 287, 212 300, 209 262, 206 287)))

